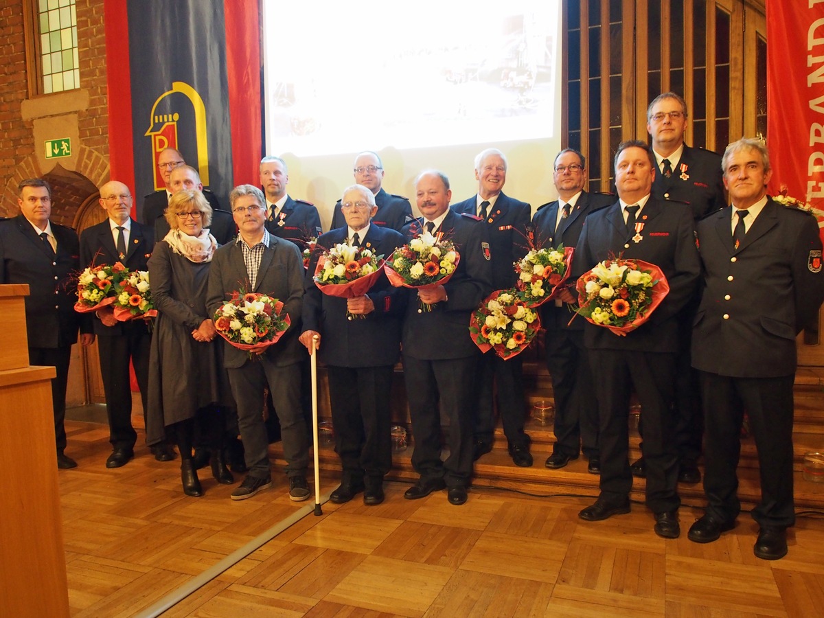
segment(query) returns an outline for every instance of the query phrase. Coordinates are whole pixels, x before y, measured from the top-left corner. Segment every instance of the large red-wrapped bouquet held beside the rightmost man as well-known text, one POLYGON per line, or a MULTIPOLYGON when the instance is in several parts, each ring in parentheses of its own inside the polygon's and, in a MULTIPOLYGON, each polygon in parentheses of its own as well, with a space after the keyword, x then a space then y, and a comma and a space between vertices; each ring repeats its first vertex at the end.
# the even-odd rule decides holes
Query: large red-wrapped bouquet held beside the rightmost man
POLYGON ((578 279, 577 313, 616 335, 644 324, 669 293, 658 266, 641 260, 604 260, 578 279))

